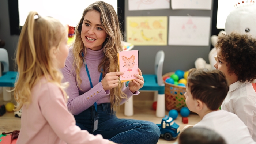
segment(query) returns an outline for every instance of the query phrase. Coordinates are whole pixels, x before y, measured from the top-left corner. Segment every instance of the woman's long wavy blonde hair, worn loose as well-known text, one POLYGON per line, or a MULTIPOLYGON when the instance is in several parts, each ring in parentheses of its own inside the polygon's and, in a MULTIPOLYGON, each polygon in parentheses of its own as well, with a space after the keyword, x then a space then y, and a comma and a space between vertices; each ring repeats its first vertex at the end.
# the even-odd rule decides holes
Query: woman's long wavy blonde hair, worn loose
MULTIPOLYGON (((82 83, 82 80, 79 76, 80 69, 83 65, 82 52, 85 51, 86 53, 86 49, 81 38, 82 24, 86 13, 93 10, 98 11, 101 14, 102 27, 108 34, 108 38, 106 38, 105 42, 103 43, 104 57, 98 66, 98 70, 100 72, 103 72, 103 77, 105 77, 106 73, 108 72, 119 71, 117 53, 123 50, 121 45, 122 34, 120 31, 118 17, 113 6, 103 1, 97 1, 89 5, 89 7, 87 7, 83 11, 83 16, 80 19, 78 25, 76 26, 75 41, 72 44, 72 53, 74 54, 73 67, 75 68, 75 72, 77 75, 76 81, 78 82, 79 88, 82 83)), ((121 100, 123 98, 127 98, 127 95, 124 94, 124 92, 121 90, 122 86, 123 84, 120 82, 119 79, 118 86, 110 90, 110 103, 111 108, 114 111, 119 109, 121 100)), ((82 89, 80 88, 80 90, 82 89)))

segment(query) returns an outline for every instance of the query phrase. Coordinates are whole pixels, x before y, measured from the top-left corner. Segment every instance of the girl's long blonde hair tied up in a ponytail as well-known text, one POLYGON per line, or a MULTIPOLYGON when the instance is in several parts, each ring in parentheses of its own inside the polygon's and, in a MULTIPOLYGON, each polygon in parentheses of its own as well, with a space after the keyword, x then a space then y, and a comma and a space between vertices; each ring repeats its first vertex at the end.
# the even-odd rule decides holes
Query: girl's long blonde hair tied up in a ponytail
POLYGON ((35 11, 29 13, 22 27, 16 51, 18 76, 14 98, 19 103, 16 110, 31 102, 31 89, 42 76, 45 76, 48 82, 56 84, 65 98, 67 97, 63 88, 67 87, 68 83, 61 83, 63 75, 50 53, 51 49, 59 50, 60 42, 67 35, 67 27, 59 20, 41 17, 35 11))

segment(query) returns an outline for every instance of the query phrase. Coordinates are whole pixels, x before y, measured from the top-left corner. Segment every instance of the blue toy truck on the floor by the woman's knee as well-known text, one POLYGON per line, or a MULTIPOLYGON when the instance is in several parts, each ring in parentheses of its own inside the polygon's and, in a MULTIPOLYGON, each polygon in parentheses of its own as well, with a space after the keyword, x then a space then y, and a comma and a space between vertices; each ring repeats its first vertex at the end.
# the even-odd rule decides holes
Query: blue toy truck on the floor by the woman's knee
POLYGON ((180 134, 180 126, 173 121, 173 118, 165 115, 161 124, 157 124, 160 129, 160 136, 165 140, 175 139, 180 134))

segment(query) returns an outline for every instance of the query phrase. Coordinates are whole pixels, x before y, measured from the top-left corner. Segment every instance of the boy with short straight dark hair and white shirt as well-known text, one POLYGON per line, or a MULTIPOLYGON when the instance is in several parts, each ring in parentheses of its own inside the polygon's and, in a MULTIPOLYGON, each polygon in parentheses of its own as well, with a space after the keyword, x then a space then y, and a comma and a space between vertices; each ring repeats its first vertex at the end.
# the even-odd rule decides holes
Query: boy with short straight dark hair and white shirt
POLYGON ((202 119, 194 127, 205 127, 220 134, 227 144, 256 144, 247 126, 237 115, 219 110, 229 86, 219 70, 191 69, 188 75, 186 104, 202 119))

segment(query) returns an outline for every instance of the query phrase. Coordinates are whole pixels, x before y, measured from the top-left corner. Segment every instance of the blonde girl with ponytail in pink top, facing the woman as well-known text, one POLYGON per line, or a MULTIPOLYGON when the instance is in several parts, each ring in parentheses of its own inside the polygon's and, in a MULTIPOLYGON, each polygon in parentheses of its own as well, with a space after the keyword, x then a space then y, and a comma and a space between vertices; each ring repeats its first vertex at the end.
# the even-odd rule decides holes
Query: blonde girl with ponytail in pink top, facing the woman
POLYGON ((68 56, 67 27, 59 20, 30 12, 19 38, 16 60, 18 80, 14 96, 22 108, 17 144, 108 144, 75 125, 67 110, 67 94, 61 83, 68 56))

